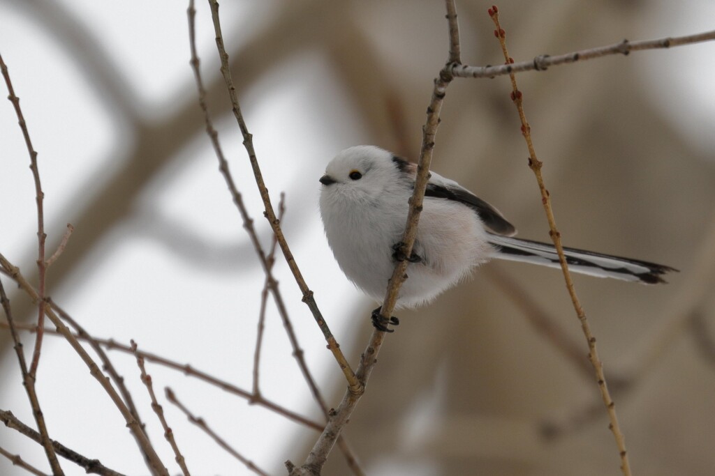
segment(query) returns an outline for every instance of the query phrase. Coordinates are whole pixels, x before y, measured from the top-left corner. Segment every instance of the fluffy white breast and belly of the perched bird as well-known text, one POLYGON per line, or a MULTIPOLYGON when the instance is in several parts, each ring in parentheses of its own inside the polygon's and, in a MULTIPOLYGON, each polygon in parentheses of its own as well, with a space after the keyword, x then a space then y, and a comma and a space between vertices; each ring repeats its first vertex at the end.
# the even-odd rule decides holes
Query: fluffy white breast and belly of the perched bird
MULTIPOLYGON (((428 303, 491 254, 476 215, 460 213, 463 219, 455 220, 455 214, 445 206, 461 207, 425 200, 414 250, 423 262, 408 265, 408 279, 400 288, 398 308, 428 303), (455 236, 463 240, 455 241, 455 236)), ((393 245, 402 238, 407 208, 342 212, 332 216, 333 226, 326 228, 330 248, 347 278, 381 303, 395 268, 393 245)))

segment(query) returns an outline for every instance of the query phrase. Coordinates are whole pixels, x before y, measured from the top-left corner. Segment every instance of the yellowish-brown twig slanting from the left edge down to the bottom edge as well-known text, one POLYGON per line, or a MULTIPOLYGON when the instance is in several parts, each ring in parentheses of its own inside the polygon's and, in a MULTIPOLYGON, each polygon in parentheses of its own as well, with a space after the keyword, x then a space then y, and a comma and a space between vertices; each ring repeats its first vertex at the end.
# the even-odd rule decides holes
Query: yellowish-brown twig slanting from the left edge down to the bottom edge
MULTIPOLYGON (((16 283, 18 283, 18 285, 25 291, 25 293, 30 296, 33 302, 39 300, 38 293, 36 292, 36 290, 34 290, 34 288, 32 288, 32 286, 20 273, 19 268, 10 263, 4 257, 4 255, 2 255, 2 253, 0 253, 0 267, 4 268, 6 273, 8 273, 11 278, 13 278, 16 283)), ((87 350, 84 350, 84 348, 79 343, 74 334, 71 332, 71 330, 69 330, 69 328, 64 325, 62 320, 48 305, 48 303, 46 303, 46 301, 43 301, 43 303, 44 312, 46 313, 47 317, 52 321, 59 333, 61 333, 61 335, 64 336, 67 342, 69 342, 69 345, 71 345, 74 351, 79 354, 79 357, 82 358, 82 361, 89 368, 89 373, 92 374, 92 377, 97 379, 100 385, 102 385, 104 391, 107 392, 107 395, 109 395, 109 397, 112 399, 114 405, 119 409, 119 412, 122 413, 122 417, 124 417, 124 420, 127 422, 127 427, 129 427, 130 431, 134 432, 134 435, 137 437, 139 444, 142 445, 143 450, 149 456, 149 461, 151 462, 152 468, 160 475, 168 476, 169 473, 167 472, 166 467, 164 467, 164 464, 162 463, 161 459, 159 459, 159 455, 157 455, 157 452, 154 450, 154 447, 152 447, 152 443, 147 438, 147 435, 144 434, 144 430, 142 430, 141 425, 139 425, 139 422, 137 422, 137 420, 134 418, 132 412, 129 411, 127 405, 124 405, 122 397, 119 396, 117 390, 114 390, 114 387, 112 386, 112 383, 109 381, 107 376, 102 373, 102 370, 99 370, 99 366, 97 366, 97 363, 92 360, 92 357, 89 356, 87 350)))

